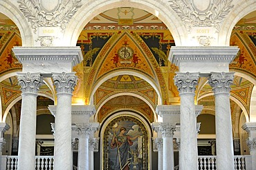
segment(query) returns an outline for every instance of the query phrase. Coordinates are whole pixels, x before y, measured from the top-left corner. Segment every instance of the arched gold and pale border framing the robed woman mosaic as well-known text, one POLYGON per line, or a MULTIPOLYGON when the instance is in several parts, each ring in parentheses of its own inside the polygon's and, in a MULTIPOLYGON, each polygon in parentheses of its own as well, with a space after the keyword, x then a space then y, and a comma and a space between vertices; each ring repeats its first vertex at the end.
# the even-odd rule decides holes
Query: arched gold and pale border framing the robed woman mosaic
POLYGON ((109 118, 107 118, 107 120, 104 121, 104 123, 102 123, 102 126, 100 127, 100 138, 102 140, 100 140, 100 169, 103 169, 102 166, 104 161, 103 161, 103 157, 104 157, 104 146, 106 140, 105 138, 109 136, 109 133, 106 135, 106 131, 107 132, 111 132, 111 127, 113 127, 113 125, 115 124, 115 120, 120 121, 120 120, 135 120, 136 123, 139 123, 140 125, 144 126, 143 127, 143 131, 145 131, 145 133, 147 133, 147 145, 148 145, 148 157, 147 157, 147 162, 148 162, 148 166, 147 169, 152 169, 152 129, 150 127, 150 125, 147 123, 147 121, 141 117, 138 114, 134 114, 133 112, 130 111, 120 111, 116 114, 112 114, 112 116, 110 116, 109 118))

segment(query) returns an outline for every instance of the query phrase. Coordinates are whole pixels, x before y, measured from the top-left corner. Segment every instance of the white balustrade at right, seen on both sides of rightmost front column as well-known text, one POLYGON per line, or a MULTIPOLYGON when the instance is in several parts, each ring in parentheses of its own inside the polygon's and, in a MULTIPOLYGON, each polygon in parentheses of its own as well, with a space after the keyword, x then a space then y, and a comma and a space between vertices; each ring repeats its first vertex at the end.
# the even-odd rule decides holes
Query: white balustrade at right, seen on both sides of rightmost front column
MULTIPOLYGON (((199 170, 217 169, 217 156, 199 156, 199 170)), ((251 156, 234 156, 235 170, 252 170, 251 156)))

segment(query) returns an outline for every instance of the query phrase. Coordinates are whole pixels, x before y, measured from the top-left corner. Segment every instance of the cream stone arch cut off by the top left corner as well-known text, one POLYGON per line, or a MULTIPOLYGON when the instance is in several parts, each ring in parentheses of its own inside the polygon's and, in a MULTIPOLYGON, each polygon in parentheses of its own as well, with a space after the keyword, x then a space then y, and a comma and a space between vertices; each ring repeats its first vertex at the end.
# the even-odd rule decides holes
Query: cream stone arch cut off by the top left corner
POLYGON ((24 14, 12 3, 12 1, 0 1, 0 12, 9 17, 19 28, 21 34, 22 46, 33 46, 33 32, 30 29, 24 14))

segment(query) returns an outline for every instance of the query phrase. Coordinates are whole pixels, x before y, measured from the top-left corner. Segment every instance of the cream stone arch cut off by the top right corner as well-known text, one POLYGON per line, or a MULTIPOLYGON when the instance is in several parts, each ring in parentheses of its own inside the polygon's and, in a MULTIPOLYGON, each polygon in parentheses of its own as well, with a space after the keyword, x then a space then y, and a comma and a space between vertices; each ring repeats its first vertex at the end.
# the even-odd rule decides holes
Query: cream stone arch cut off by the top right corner
POLYGON ((255 6, 256 2, 254 0, 248 0, 246 3, 244 3, 244 1, 236 1, 235 7, 232 8, 230 13, 225 17, 219 30, 219 45, 230 45, 232 29, 246 14, 253 12, 255 6))

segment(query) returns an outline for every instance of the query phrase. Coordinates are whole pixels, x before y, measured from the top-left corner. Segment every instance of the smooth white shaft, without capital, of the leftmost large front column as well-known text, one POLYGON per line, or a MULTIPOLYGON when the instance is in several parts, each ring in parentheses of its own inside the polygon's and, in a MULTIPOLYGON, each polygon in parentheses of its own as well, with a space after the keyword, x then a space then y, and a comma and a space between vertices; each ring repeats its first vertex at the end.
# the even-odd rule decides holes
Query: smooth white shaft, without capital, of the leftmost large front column
POLYGON ((37 95, 22 94, 19 125, 19 170, 35 170, 37 95))

